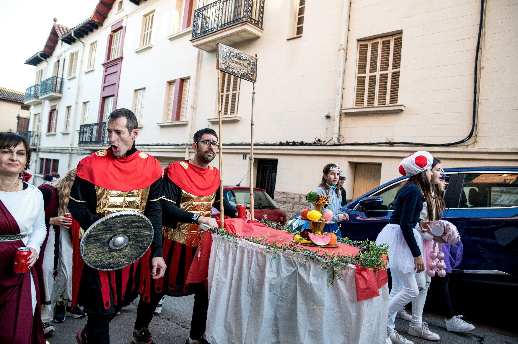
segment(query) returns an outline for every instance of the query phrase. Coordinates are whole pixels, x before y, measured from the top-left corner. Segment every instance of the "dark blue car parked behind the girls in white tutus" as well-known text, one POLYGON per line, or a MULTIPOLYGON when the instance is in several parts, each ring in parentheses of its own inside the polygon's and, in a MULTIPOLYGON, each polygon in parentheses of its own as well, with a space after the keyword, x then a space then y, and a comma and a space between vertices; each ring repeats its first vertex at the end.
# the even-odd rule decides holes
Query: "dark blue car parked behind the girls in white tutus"
MULTIPOLYGON (((518 286, 518 167, 477 167, 445 170, 447 209, 464 244, 463 259, 452 278, 518 286)), ((343 236, 376 240, 388 223, 394 196, 407 177, 385 183, 342 207, 349 220, 340 222, 343 236)), ((301 224, 300 215, 288 222, 301 224)))

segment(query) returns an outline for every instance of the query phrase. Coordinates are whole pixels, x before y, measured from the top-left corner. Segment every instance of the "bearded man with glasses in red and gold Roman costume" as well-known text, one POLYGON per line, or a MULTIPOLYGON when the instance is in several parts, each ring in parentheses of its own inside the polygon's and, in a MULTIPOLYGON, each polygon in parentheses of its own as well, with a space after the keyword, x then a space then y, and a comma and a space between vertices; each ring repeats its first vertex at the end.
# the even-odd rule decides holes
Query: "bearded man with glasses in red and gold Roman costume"
MULTIPOLYGON (((185 296, 194 294, 191 319, 191 333, 187 344, 206 343, 202 338, 207 323, 209 305, 206 280, 186 283, 189 270, 197 266, 196 251, 200 245, 202 223, 218 227, 211 218, 212 206, 220 200, 220 171, 209 166, 218 149, 218 136, 212 129, 205 128, 194 134, 194 159, 171 163, 164 170, 164 193, 162 200, 163 256, 167 263, 164 278, 152 280, 142 270, 140 301, 135 322, 135 343, 149 343, 148 338, 136 336, 147 331, 153 312, 164 295, 185 296), (195 262, 193 263, 193 260, 195 262), (191 263, 193 263, 191 265, 191 263), (137 331, 138 330, 138 331, 137 331)), ((217 205, 219 207, 219 205, 217 205)), ((224 200, 224 214, 236 217, 236 208, 224 200)), ((200 248, 210 250, 209 247, 200 248)), ((142 257, 144 259, 145 255, 142 257)), ((144 263, 142 260, 142 269, 144 263)), ((149 331, 147 331, 149 333, 149 331)), ((149 336, 151 338, 151 336, 149 336)))

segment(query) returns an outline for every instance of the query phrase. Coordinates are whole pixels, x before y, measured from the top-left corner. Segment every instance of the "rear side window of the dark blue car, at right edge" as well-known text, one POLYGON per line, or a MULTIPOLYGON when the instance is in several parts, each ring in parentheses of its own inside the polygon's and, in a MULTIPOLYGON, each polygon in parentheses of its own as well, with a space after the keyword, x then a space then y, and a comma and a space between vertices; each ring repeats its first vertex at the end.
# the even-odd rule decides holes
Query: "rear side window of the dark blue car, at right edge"
POLYGON ((518 206, 518 173, 466 173, 461 208, 518 206))

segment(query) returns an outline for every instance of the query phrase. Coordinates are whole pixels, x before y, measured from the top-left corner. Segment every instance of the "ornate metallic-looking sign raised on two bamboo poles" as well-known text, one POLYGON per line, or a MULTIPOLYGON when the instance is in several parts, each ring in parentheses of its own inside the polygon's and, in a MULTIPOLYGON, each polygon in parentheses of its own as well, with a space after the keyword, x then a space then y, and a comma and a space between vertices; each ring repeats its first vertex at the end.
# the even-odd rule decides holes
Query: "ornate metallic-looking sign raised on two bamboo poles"
POLYGON ((218 69, 251 82, 257 81, 257 58, 218 43, 218 69))

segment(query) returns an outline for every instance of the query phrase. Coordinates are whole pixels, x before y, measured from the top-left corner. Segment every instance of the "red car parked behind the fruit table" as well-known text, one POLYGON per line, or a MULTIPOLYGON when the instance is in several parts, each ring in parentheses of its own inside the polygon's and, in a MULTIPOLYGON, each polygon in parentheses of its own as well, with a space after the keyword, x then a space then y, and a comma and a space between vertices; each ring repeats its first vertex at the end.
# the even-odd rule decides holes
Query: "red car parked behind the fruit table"
MULTIPOLYGON (((250 210, 250 188, 239 186, 225 186, 223 197, 232 205, 246 204, 250 210)), ((219 215, 219 209, 212 208, 212 216, 219 215)), ((254 218, 286 223, 286 213, 271 199, 264 189, 254 188, 254 218)))

